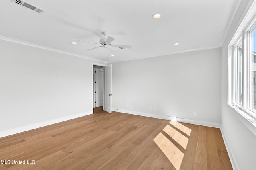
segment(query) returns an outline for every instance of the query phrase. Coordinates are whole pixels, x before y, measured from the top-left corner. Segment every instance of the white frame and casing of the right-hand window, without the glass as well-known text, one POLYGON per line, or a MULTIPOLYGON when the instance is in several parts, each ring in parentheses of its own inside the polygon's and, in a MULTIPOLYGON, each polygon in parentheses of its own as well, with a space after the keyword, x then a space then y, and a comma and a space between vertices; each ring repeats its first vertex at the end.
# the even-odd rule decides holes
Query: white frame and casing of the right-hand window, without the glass
MULTIPOLYGON (((248 20, 248 18, 247 18, 248 20)), ((250 109, 250 49, 251 32, 256 29, 256 14, 247 22, 247 25, 240 27, 228 46, 228 104, 233 107, 250 125, 253 125, 253 133, 256 135, 256 111, 250 109), (242 46, 242 102, 236 102, 236 50, 242 46)), ((238 116, 239 117, 239 116, 238 116)), ((251 129, 251 128, 249 128, 251 129)))

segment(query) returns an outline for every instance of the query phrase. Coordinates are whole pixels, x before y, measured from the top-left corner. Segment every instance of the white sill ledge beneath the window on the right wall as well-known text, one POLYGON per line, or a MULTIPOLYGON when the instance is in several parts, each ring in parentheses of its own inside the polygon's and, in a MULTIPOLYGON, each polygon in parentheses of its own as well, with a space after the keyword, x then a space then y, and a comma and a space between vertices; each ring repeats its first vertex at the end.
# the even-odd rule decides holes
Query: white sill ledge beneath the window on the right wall
POLYGON ((236 117, 256 136, 256 119, 248 115, 240 107, 229 104, 236 111, 236 117))

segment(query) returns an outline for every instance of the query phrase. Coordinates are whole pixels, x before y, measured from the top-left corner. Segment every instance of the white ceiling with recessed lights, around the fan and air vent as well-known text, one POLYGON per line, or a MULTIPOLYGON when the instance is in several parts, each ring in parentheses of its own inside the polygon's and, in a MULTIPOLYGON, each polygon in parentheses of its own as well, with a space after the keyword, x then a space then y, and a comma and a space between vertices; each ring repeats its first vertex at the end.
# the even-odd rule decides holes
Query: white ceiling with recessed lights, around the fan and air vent
POLYGON ((236 0, 26 0, 45 10, 38 14, 11 0, 0 5, 0 35, 44 48, 114 62, 220 47, 236 0), (162 17, 153 19, 152 14, 162 17), (99 45, 103 31, 115 38, 99 45), (71 42, 77 42, 76 45, 71 42), (180 45, 173 45, 180 43, 180 45))

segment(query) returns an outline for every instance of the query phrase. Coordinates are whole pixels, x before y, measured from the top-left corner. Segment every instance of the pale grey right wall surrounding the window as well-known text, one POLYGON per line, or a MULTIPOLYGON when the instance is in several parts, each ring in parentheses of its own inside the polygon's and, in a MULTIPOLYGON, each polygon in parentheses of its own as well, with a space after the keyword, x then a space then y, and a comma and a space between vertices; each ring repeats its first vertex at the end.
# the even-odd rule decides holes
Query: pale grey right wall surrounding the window
POLYGON ((253 170, 255 169, 256 136, 236 117, 237 113, 227 104, 228 94, 228 43, 240 25, 244 14, 252 0, 242 0, 238 12, 232 22, 228 35, 222 45, 222 132, 226 144, 232 153, 234 169, 253 170), (241 18, 242 17, 242 18, 241 18))

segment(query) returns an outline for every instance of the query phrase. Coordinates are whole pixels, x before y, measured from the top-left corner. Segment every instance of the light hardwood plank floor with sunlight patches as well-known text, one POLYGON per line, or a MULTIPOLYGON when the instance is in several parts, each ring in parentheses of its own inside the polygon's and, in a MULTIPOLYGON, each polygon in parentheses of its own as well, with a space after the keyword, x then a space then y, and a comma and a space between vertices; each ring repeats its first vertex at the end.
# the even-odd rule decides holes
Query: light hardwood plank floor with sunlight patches
POLYGON ((218 128, 109 114, 102 107, 92 115, 0 138, 0 160, 0 170, 232 169, 218 128))

